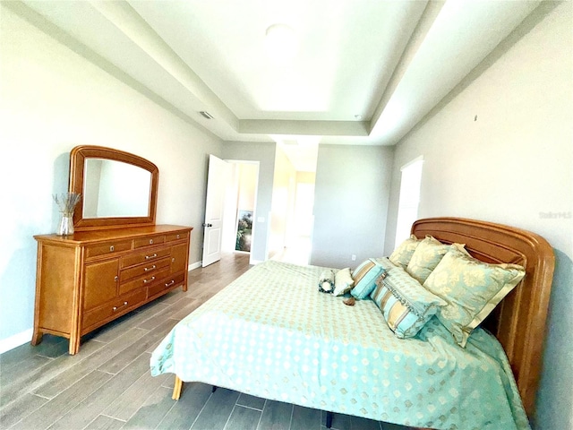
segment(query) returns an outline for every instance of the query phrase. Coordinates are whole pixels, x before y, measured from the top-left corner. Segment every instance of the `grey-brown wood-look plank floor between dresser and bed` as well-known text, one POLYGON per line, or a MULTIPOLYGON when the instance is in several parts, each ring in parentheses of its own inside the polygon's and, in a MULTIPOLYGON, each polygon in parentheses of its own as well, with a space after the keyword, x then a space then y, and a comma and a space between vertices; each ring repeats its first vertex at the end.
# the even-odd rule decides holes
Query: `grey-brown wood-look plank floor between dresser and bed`
MULTIPOLYGON (((248 255, 229 254, 190 272, 189 290, 173 291, 82 338, 44 335, 0 355, 0 428, 37 429, 324 429, 326 414, 278 401, 185 383, 171 400, 172 374, 150 376, 150 354, 171 328, 249 269, 248 255)), ((334 414, 338 430, 407 427, 334 414)))

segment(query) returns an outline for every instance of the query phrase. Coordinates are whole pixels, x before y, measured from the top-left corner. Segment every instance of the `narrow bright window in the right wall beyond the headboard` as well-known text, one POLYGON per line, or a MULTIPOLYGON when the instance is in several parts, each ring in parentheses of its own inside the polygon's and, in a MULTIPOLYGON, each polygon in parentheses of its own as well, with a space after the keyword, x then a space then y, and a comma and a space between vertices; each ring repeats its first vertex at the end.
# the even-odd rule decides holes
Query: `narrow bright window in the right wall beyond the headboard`
POLYGON ((422 156, 402 166, 400 197, 398 201, 398 223, 396 225, 395 246, 400 245, 410 235, 412 223, 418 218, 420 185, 422 183, 422 156))

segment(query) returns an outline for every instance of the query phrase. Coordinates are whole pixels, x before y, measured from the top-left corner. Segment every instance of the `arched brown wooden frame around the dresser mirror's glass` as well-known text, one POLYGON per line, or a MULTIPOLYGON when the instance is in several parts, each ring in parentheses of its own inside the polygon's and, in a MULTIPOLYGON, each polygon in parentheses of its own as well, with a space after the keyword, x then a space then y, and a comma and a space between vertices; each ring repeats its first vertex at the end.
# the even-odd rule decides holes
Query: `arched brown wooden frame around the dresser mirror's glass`
POLYGON ((155 225, 158 202, 159 169, 151 161, 137 155, 102 146, 82 145, 70 151, 70 193, 81 193, 81 200, 73 213, 73 227, 76 231, 100 228, 124 228, 155 225), (144 168, 151 174, 149 212, 147 217, 83 218, 83 171, 86 159, 111 159, 144 168))

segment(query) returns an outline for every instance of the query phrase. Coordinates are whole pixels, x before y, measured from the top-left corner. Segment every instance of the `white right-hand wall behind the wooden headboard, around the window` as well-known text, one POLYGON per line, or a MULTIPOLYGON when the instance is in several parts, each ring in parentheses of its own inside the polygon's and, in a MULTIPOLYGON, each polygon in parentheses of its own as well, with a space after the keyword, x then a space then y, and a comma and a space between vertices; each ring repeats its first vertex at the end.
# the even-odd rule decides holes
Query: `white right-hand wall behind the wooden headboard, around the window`
POLYGON ((483 219, 544 236, 557 257, 535 428, 573 428, 573 13, 560 4, 435 116, 399 142, 423 155, 420 218, 483 219), (475 121, 477 116, 477 121, 475 121), (553 213, 557 218, 547 218, 553 213))

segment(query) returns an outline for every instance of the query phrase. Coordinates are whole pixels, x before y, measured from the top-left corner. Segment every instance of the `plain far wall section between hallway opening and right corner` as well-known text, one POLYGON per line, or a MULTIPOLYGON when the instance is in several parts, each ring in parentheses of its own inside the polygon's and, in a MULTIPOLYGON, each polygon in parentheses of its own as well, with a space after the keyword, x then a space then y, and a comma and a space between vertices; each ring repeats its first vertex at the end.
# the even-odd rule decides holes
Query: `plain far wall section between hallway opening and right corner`
POLYGON ((355 268, 383 255, 392 159, 391 147, 319 146, 311 264, 355 268))

